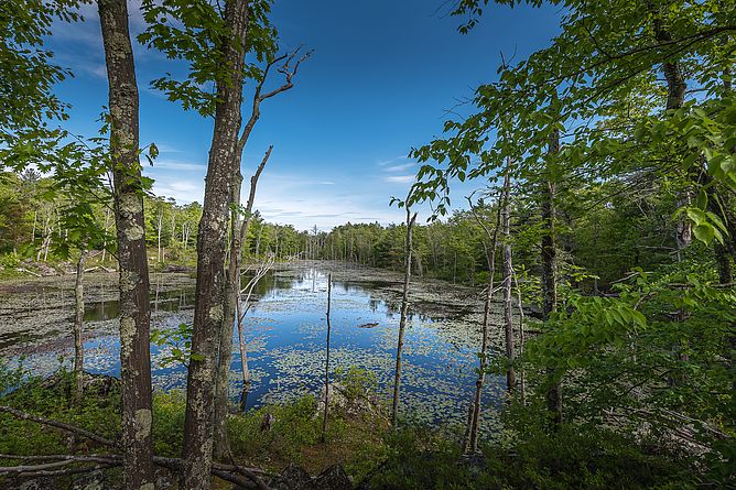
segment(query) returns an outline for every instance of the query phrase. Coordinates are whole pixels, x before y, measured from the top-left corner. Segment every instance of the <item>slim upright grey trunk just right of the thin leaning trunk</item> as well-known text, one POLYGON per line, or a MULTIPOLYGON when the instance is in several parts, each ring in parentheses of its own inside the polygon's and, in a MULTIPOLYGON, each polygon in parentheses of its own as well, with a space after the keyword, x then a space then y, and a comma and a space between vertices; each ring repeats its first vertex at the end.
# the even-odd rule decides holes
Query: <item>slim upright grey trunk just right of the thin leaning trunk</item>
POLYGON ((511 276, 513 269, 511 266, 511 199, 510 199, 510 167, 507 164, 506 176, 504 177, 504 210, 501 222, 504 227, 504 333, 506 337, 506 359, 509 367, 506 370, 506 388, 511 392, 517 385, 517 374, 513 369, 513 359, 516 358, 513 346, 513 306, 511 305, 511 276))

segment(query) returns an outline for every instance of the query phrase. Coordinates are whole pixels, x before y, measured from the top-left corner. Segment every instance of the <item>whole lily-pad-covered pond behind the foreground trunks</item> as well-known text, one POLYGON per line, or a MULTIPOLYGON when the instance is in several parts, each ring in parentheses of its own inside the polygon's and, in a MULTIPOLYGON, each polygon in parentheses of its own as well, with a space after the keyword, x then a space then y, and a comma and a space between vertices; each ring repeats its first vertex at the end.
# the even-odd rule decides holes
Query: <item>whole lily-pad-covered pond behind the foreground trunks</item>
MULTIPOLYGON (((324 383, 328 274, 333 276, 331 375, 350 367, 370 370, 376 374, 380 395, 387 401, 390 399, 401 276, 386 271, 305 262, 271 271, 256 290, 256 301, 245 320, 252 375, 248 409, 321 392, 324 383)), ((152 277, 151 285, 154 328, 192 320, 193 280, 187 282, 176 277, 174 281, 167 274, 159 274, 152 277)), ((94 292, 99 286, 91 285, 88 290, 94 292)), ((93 293, 94 301, 88 301, 86 318, 91 338, 85 341, 85 370, 118 375, 119 340, 113 319, 118 313, 117 293, 113 287, 111 291, 111 296, 108 291, 93 293)), ((44 294, 53 293, 44 291, 44 294)), ((412 284, 411 297, 403 355, 401 413, 415 422, 463 424, 477 377, 479 292, 416 280, 412 284)), ((72 313, 71 305, 63 301, 58 302, 56 309, 67 315, 72 313)), ((495 312, 493 317, 497 325, 493 330, 494 339, 500 335, 498 314, 495 312)), ((0 322, 4 320, 0 317, 0 322)), ((0 333, 3 331, 1 326, 2 323, 0 333)), ((71 325, 50 331, 68 333, 71 325)), ((52 338, 53 334, 47 337, 52 338)), ((21 338, 14 337, 14 340, 21 345, 21 338)), ((237 333, 235 338, 231 364, 234 401, 242 386, 237 333)), ((68 366, 72 357, 68 339, 67 334, 46 345, 26 342, 29 348, 23 352, 25 358, 22 360, 24 367, 34 374, 50 374, 59 364, 68 366)), ((153 383, 158 390, 181 389, 186 383, 184 366, 163 362, 169 349, 171 347, 151 346, 153 383)), ((15 351, 12 356, 13 363, 21 361, 18 355, 15 351)), ((501 393, 502 380, 487 378, 486 405, 497 406, 502 399, 501 393)), ((485 412, 487 417, 493 416, 494 411, 485 412)))

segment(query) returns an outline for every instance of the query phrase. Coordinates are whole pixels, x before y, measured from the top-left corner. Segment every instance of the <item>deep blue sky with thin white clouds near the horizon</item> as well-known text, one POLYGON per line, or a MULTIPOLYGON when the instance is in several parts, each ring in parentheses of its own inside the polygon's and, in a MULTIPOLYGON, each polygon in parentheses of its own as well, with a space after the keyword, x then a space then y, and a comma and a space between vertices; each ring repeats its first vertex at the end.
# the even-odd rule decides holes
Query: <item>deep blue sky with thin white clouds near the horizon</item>
MULTIPOLYGON (((483 83, 496 80, 500 53, 520 61, 544 47, 559 31, 560 12, 491 6, 466 35, 462 19, 445 14, 447 0, 275 0, 271 15, 282 52, 303 45, 313 55, 296 86, 262 105, 242 157, 248 176, 270 144, 273 153, 259 182, 255 207, 270 222, 322 230, 350 222, 400 222, 389 206, 404 197, 419 168, 408 157, 442 133, 448 111, 483 83)), ((140 0, 129 0, 130 29, 144 29, 140 0)), ((67 127, 96 135, 107 104, 107 75, 94 6, 82 23, 57 23, 48 46, 75 74, 56 91, 73 106, 67 127)), ((180 204, 202 203, 213 121, 184 111, 150 87, 185 66, 134 46, 140 90, 141 145, 160 156, 144 173, 156 195, 180 204)), ((275 87, 281 79, 273 77, 275 87)), ((247 99, 250 97, 246 96, 247 99)), ((249 109, 243 111, 249 117, 249 109)), ((453 204, 483 183, 455 183, 453 204)), ((243 189, 247 196, 247 188, 243 189)), ((424 217, 429 208, 422 209, 424 217)))

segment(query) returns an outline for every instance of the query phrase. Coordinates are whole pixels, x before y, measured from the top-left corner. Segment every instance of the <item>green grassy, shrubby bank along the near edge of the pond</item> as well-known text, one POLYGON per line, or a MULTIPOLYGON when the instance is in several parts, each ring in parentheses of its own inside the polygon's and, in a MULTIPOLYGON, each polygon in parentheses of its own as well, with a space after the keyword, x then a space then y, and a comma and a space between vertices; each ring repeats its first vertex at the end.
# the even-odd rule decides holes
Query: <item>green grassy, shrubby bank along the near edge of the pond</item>
MULTIPOLYGON (((22 373, 3 371, 6 388, 22 373)), ((351 382, 347 379, 346 383, 351 382)), ((353 386, 355 389, 355 386, 353 386)), ((361 386, 359 386, 361 388, 361 386)), ((88 383, 77 405, 69 398, 71 374, 31 379, 6 393, 1 405, 73 424, 110 439, 119 432, 119 388, 111 378, 88 383)), ((355 393, 355 390, 347 390, 355 393)), ((349 398, 349 395, 348 395, 349 398)), ((235 459, 277 475, 295 464, 312 475, 340 464, 356 487, 366 489, 684 489, 696 488, 699 476, 685 459, 621 438, 606 429, 562 426, 552 435, 531 421, 508 420, 502 438, 487 442, 481 454, 463 456, 456 437, 442 427, 402 425, 391 429, 381 411, 331 410, 325 442, 322 417, 312 395, 289 404, 269 405, 229 418, 235 459), (270 428, 263 427, 267 417, 270 428)), ((185 400, 178 391, 154 399, 155 453, 178 457, 185 400)), ((507 414, 510 416, 510 413, 507 414)), ((0 414, 0 454, 99 454, 108 448, 33 422, 0 414)), ((6 458, 3 466, 21 461, 6 458)), ((118 469, 106 470, 104 484, 115 488, 118 469)), ((17 488, 21 480, 0 479, 0 488, 17 488), (4 487, 3 487, 4 486, 4 487)), ((163 488, 175 488, 175 477, 163 488), (167 486, 167 487, 166 487, 167 486)), ((73 488, 72 477, 57 488, 73 488)), ((108 487, 105 487, 108 488, 108 487)), ((214 488, 229 488, 215 482, 214 488)))

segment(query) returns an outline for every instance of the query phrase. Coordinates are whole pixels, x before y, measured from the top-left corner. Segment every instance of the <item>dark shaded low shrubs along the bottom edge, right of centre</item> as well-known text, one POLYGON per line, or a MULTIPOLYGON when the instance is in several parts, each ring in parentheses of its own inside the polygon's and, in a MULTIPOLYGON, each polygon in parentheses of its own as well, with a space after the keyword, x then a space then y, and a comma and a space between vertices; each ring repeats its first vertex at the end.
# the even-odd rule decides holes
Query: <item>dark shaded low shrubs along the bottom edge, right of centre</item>
POLYGON ((563 426, 508 446, 487 445, 463 458, 458 446, 430 432, 404 429, 388 438, 389 458, 370 479, 376 489, 690 489, 686 466, 646 454, 604 429, 580 434, 563 426))

